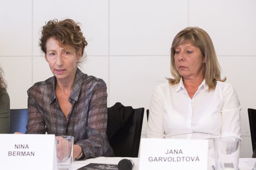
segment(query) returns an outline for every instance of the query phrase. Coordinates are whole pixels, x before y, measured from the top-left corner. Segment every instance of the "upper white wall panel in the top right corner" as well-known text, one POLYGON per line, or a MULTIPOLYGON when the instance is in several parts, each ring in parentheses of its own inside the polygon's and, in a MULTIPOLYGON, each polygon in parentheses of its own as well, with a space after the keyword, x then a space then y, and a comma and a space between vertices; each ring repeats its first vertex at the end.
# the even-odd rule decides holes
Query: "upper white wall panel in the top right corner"
POLYGON ((189 25, 206 30, 218 55, 256 55, 255 0, 189 0, 189 25))

